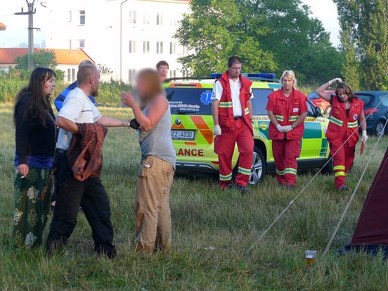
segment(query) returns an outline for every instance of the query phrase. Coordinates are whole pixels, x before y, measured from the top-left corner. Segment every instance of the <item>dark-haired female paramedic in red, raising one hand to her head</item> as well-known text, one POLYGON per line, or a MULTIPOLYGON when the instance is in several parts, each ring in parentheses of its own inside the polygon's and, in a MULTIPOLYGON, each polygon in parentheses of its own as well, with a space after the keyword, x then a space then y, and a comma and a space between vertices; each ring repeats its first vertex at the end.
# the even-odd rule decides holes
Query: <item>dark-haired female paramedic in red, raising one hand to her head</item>
POLYGON ((368 140, 364 102, 357 99, 350 85, 339 78, 323 84, 316 92, 332 106, 326 138, 330 146, 330 155, 333 157, 336 187, 339 191, 349 190, 345 179, 355 159, 358 120, 361 123, 363 143, 368 140), (324 93, 324 90, 335 82, 339 82, 336 94, 324 93))

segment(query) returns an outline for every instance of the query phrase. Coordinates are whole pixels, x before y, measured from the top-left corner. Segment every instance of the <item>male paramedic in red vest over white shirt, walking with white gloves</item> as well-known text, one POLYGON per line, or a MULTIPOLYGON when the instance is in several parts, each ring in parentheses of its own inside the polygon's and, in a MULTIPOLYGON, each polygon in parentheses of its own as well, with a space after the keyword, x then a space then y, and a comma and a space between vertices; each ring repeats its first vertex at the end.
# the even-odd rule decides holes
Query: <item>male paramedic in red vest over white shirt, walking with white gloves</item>
POLYGON ((218 154, 220 185, 223 190, 231 189, 232 157, 237 143, 239 167, 235 179, 235 189, 242 194, 246 188, 252 168, 253 127, 252 127, 252 81, 241 76, 242 62, 237 56, 228 59, 227 71, 214 83, 212 115, 214 121, 214 152, 218 154))

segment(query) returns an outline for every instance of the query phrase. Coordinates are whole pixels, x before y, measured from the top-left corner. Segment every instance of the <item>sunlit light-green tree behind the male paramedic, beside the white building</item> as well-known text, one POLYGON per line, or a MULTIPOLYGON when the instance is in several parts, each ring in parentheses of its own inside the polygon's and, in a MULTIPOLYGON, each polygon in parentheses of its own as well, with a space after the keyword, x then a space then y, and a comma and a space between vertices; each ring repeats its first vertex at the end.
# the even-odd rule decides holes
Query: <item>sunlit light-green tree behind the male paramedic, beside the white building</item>
MULTIPOLYGON (((179 60, 184 69, 198 74, 223 72, 231 55, 243 58, 244 71, 276 69, 274 56, 260 48, 254 35, 246 33, 257 19, 250 18, 244 1, 193 0, 190 14, 176 33, 179 42, 194 53, 179 60)), ((265 33, 258 26, 257 33, 265 33)))

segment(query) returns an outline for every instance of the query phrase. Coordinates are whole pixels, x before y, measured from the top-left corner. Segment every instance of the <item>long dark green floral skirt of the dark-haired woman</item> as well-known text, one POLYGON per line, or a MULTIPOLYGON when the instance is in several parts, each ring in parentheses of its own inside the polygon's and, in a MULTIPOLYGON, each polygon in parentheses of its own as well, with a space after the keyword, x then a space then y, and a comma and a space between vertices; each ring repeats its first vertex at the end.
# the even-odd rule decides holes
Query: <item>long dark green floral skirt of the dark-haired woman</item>
POLYGON ((21 178, 15 167, 14 239, 16 247, 42 244, 43 230, 49 216, 53 179, 42 198, 51 169, 30 167, 26 178, 21 178))

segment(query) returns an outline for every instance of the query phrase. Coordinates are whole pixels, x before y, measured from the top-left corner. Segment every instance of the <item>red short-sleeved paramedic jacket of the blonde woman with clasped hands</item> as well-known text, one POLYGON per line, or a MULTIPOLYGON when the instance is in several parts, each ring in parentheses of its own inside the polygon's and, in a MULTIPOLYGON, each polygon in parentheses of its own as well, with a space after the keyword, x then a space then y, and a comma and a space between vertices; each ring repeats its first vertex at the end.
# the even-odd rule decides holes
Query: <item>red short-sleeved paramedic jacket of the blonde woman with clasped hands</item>
MULTIPOLYGON (((291 96, 285 97, 283 94, 283 89, 277 90, 274 93, 268 95, 268 102, 273 102, 275 117, 281 126, 291 125, 301 114, 301 106, 303 102, 307 102, 307 96, 292 88, 291 96), (293 100, 288 100, 288 98, 293 97, 293 100)), ((286 133, 288 140, 300 140, 302 139, 303 132, 305 131, 305 122, 303 121, 300 125, 286 133)), ((275 125, 270 122, 269 128, 269 138, 270 139, 284 139, 284 132, 279 132, 276 129, 275 125)))

